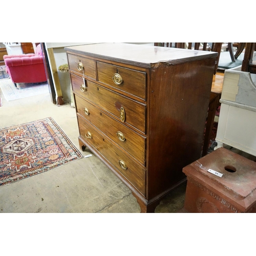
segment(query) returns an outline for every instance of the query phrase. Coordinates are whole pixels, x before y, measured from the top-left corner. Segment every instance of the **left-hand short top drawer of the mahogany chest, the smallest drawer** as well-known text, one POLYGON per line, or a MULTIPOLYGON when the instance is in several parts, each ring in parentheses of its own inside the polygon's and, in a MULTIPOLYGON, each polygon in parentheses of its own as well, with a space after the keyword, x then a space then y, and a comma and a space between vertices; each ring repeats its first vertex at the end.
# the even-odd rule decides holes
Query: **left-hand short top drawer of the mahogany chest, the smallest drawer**
POLYGON ((95 60, 68 54, 69 69, 84 77, 96 80, 95 60))

